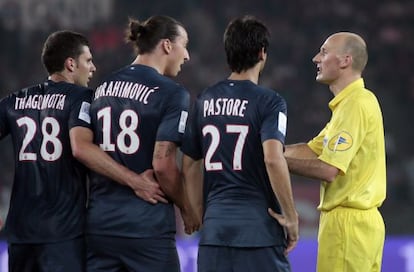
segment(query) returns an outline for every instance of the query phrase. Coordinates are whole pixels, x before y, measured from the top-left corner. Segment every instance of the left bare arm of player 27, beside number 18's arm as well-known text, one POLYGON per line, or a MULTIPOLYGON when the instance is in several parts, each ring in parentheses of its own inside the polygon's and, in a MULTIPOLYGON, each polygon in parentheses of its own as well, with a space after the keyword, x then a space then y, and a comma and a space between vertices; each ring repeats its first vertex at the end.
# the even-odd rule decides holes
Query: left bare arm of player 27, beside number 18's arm
MULTIPOLYGON (((187 155, 183 155, 183 175, 184 175, 184 186, 192 206, 195 211, 198 228, 201 226, 203 217, 203 175, 202 175, 202 162, 203 160, 193 160, 187 155)), ((186 222, 184 222, 186 223, 186 222)), ((187 228, 187 226, 186 226, 187 228)))

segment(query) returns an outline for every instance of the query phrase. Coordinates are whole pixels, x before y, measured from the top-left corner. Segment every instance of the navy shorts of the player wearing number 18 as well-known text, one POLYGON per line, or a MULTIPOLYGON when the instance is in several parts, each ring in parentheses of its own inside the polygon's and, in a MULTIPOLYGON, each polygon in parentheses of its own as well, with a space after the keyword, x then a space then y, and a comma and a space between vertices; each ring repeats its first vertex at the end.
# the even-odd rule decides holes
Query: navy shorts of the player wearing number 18
POLYGON ((179 272, 174 238, 87 236, 87 270, 93 272, 179 272))

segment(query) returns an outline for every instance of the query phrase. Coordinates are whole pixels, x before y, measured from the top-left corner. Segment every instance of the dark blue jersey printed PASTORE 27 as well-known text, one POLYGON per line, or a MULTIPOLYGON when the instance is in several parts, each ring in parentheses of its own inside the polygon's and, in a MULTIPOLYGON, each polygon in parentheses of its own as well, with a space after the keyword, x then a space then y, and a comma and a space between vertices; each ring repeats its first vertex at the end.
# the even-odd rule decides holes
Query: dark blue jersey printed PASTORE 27
POLYGON ((284 143, 287 109, 275 91, 225 80, 196 100, 182 151, 204 158, 201 245, 284 244, 283 228, 267 209, 280 207, 266 172, 262 142, 284 143))

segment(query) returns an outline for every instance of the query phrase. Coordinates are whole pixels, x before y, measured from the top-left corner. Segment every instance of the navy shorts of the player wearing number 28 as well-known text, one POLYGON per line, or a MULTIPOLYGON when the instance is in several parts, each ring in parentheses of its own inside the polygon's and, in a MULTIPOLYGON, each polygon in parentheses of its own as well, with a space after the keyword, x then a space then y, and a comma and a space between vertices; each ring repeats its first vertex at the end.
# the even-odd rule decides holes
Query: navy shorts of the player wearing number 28
POLYGON ((9 244, 9 272, 85 271, 84 238, 48 244, 9 244))

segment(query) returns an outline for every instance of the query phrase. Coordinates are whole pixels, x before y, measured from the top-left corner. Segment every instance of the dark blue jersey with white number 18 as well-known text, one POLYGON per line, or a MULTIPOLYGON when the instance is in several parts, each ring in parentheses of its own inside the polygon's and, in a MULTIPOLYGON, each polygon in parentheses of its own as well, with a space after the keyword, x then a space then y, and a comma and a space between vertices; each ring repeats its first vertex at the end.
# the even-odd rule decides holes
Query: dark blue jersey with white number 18
MULTIPOLYGON (((152 168, 155 141, 181 144, 188 92, 143 65, 125 67, 95 91, 91 120, 95 143, 113 159, 141 173, 152 168)), ((127 186, 93 174, 88 233, 123 237, 172 237, 172 204, 152 205, 127 186)))

